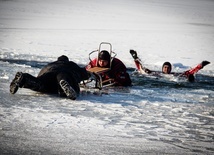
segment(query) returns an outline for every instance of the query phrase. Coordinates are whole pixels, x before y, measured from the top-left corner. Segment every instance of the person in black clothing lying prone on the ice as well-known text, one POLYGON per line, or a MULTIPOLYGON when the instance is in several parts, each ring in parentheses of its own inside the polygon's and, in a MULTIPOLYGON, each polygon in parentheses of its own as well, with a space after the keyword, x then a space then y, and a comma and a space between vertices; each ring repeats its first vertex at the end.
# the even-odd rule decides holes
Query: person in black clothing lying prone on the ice
POLYGON ((10 84, 10 93, 15 94, 19 88, 28 88, 42 93, 58 93, 61 97, 75 100, 80 93, 80 81, 88 78, 85 68, 62 55, 43 67, 37 77, 17 72, 10 84))

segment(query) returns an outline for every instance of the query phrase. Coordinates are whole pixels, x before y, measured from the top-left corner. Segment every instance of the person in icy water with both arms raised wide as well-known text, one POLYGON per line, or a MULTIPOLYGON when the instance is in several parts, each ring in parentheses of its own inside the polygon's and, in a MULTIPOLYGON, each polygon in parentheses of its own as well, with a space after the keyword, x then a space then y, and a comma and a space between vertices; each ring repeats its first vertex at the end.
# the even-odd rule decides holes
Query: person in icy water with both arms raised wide
POLYGON ((154 76, 159 76, 160 74, 173 74, 178 77, 186 77, 188 81, 193 82, 195 81, 194 74, 196 74, 200 69, 202 69, 204 66, 208 65, 209 61, 202 61, 200 64, 198 64, 196 67, 189 69, 183 73, 174 73, 171 72, 172 65, 170 62, 164 62, 162 65, 162 73, 157 71, 151 71, 148 68, 143 67, 141 60, 137 56, 137 52, 135 50, 130 50, 130 54, 134 58, 135 65, 137 67, 137 70, 139 73, 146 73, 154 76))

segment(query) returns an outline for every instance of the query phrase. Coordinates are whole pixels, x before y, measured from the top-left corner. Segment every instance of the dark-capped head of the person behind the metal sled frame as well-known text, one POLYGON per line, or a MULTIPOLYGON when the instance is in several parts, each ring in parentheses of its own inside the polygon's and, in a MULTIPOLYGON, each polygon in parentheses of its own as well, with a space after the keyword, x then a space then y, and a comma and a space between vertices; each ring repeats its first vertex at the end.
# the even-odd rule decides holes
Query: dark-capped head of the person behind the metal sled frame
POLYGON ((110 66, 111 56, 108 51, 102 50, 98 55, 98 65, 100 67, 109 67, 110 66))

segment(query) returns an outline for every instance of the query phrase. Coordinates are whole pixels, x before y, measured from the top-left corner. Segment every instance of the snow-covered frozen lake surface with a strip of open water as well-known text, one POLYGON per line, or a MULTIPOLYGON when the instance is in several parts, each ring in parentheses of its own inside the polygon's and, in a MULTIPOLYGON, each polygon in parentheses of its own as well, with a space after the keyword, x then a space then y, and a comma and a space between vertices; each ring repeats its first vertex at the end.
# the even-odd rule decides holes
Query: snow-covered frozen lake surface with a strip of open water
POLYGON ((214 1, 0 0, 0 154, 213 154, 214 1), (132 74, 165 61, 182 72, 203 60, 195 83, 132 75, 133 86, 75 101, 19 89, 60 55, 86 65, 110 42, 132 74))

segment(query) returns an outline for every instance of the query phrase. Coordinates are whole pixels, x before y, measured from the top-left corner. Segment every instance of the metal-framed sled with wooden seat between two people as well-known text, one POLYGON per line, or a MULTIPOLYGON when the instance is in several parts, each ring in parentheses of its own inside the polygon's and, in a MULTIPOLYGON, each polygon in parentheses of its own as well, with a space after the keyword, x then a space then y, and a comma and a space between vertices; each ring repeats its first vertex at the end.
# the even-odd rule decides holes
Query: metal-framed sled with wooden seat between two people
MULTIPOLYGON (((114 79, 108 79, 108 80, 102 80, 102 74, 108 72, 111 69, 111 64, 112 64, 112 60, 115 58, 116 53, 114 53, 112 51, 112 45, 110 43, 107 42, 102 42, 99 45, 99 49, 92 51, 91 53, 89 53, 89 60, 90 62, 92 61, 92 57, 97 57, 99 53, 102 50, 107 50, 110 54, 110 65, 108 68, 102 68, 102 67, 92 67, 87 69, 88 72, 90 72, 90 74, 92 75, 91 79, 83 81, 82 86, 83 87, 87 87, 87 85, 89 83, 91 83, 92 81, 95 81, 95 86, 92 86, 94 88, 98 88, 98 89, 102 89, 103 87, 108 87, 108 86, 112 86, 115 84, 114 79)), ((98 61, 97 61, 98 63, 98 61)), ((96 65, 98 66, 98 65, 96 65)))

